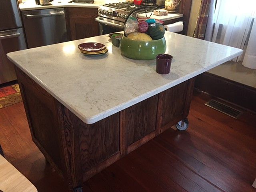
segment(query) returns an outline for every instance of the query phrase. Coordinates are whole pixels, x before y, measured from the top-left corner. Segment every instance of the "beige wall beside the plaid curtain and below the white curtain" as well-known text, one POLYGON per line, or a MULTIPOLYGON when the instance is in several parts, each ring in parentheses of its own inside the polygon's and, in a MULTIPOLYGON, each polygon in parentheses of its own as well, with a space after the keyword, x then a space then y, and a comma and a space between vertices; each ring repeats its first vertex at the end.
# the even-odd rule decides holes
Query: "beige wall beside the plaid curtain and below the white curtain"
MULTIPOLYGON (((192 1, 188 36, 193 36, 200 5, 201 0, 192 1)), ((256 70, 246 68, 241 63, 226 62, 208 72, 256 88, 256 70)))

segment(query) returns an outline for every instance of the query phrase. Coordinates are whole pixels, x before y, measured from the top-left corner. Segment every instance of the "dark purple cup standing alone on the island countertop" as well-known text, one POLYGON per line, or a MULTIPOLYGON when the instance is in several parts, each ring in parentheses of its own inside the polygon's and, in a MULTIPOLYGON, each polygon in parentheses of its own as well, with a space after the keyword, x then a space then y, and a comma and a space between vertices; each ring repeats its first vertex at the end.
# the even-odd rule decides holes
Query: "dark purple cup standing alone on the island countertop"
POLYGON ((170 73, 172 56, 169 54, 158 54, 156 56, 156 72, 159 74, 170 73))

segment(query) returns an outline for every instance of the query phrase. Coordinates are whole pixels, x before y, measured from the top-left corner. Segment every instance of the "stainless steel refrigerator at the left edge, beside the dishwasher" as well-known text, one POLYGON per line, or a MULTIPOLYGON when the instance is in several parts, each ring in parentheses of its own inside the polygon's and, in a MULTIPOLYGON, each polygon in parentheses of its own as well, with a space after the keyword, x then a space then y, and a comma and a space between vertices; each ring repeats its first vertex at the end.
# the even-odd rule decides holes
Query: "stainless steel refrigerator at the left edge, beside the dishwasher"
POLYGON ((0 0, 0 84, 16 80, 8 52, 26 49, 17 0, 0 0))

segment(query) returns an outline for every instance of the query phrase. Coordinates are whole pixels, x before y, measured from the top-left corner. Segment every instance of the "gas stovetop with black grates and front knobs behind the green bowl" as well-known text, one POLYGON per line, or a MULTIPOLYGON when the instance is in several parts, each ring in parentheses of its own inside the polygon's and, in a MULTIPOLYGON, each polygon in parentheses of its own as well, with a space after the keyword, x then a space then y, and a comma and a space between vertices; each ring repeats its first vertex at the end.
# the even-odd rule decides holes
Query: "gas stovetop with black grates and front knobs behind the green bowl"
MULTIPOLYGON (((98 16, 102 16, 104 18, 110 18, 112 20, 117 20, 124 22, 125 18, 128 14, 143 5, 135 5, 130 2, 119 2, 119 3, 108 3, 100 6, 98 8, 98 16)), ((164 7, 158 5, 147 6, 144 9, 140 9, 135 11, 131 16, 137 18, 138 14, 153 12, 154 10, 162 9, 164 7)))

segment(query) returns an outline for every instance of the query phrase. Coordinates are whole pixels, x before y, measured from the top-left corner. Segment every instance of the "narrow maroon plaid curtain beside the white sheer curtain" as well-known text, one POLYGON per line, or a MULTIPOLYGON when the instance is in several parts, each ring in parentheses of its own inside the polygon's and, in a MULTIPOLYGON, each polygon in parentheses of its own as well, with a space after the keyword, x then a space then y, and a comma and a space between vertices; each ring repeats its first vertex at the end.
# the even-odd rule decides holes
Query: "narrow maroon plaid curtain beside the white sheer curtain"
POLYGON ((202 0, 193 37, 204 39, 211 0, 202 0))

